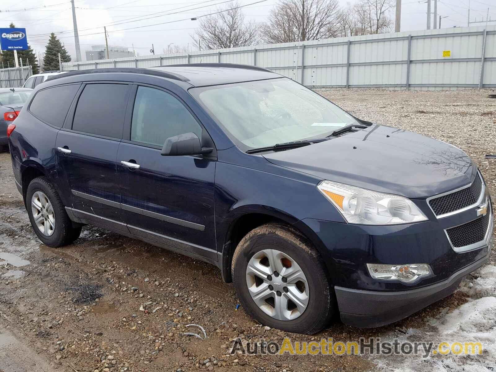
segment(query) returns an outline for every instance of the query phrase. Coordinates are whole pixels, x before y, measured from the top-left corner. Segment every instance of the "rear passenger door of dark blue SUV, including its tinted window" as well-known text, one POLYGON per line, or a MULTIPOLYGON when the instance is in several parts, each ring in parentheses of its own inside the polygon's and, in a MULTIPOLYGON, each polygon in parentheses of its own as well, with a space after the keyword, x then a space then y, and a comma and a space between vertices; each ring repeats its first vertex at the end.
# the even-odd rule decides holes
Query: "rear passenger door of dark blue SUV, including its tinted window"
POLYGON ((116 156, 129 98, 126 83, 86 83, 57 136, 57 166, 73 212, 96 225, 127 231, 120 213, 116 156))

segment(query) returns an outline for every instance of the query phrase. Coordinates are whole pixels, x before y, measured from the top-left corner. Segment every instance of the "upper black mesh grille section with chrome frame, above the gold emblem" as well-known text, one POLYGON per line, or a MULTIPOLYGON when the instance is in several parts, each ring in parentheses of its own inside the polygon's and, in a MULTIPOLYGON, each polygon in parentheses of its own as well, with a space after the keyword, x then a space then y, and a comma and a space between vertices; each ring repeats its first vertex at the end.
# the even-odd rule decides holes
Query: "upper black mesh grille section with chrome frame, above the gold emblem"
POLYGON ((447 195, 434 197, 429 200, 429 205, 434 214, 440 216, 476 204, 482 190, 482 179, 479 173, 477 173, 472 185, 447 195))

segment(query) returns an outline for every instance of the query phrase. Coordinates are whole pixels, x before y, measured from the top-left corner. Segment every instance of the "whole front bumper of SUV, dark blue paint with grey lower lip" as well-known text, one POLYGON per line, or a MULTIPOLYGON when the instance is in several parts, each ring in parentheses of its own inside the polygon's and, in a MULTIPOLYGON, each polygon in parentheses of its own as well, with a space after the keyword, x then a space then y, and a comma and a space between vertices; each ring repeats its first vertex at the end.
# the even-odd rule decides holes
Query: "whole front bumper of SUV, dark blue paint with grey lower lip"
POLYGON ((473 221, 476 208, 439 220, 390 227, 311 219, 300 222, 310 227, 324 246, 319 251, 335 285, 342 321, 370 328, 405 318, 452 294, 465 275, 488 260, 494 245, 491 202, 484 241, 469 250, 455 251, 445 233, 452 226, 473 221), (368 262, 429 263, 434 275, 411 284, 374 280, 366 269, 368 262))

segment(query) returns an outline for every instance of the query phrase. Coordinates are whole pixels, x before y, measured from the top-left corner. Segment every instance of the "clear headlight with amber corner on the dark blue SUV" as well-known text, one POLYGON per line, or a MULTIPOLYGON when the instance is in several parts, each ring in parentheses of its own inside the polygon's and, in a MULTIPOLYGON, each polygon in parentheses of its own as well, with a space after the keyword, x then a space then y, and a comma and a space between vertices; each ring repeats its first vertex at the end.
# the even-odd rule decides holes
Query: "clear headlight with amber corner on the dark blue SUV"
POLYGON ((427 220, 424 213, 403 196, 331 181, 322 181, 317 188, 349 223, 395 225, 427 220))

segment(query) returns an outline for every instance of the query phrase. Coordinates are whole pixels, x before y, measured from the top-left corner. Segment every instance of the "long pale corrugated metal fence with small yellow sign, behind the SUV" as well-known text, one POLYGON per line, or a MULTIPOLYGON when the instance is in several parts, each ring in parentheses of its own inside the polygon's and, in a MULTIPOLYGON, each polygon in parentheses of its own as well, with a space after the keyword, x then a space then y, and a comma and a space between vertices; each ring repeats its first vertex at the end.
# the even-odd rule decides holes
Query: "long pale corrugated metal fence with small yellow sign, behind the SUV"
POLYGON ((496 26, 462 27, 62 63, 62 70, 223 62, 266 67, 314 88, 496 87, 496 26))

